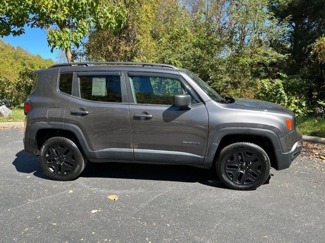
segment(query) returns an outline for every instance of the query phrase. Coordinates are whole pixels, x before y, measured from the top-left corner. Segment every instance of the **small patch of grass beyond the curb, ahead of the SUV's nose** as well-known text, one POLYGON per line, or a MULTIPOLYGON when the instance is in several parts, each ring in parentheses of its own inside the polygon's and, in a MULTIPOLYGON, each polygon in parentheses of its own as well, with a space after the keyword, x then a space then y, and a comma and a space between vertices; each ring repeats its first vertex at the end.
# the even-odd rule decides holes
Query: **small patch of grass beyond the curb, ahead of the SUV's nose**
POLYGON ((325 138, 325 118, 301 116, 296 118, 296 124, 300 134, 325 138))

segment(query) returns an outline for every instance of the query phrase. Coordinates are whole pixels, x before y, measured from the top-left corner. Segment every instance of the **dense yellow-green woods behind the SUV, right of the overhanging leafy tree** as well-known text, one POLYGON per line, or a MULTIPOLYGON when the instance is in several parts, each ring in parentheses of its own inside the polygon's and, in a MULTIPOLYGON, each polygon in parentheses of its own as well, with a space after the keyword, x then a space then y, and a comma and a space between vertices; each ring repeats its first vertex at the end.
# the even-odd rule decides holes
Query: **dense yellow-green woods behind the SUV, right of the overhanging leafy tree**
POLYGON ((325 23, 323 1, 307 2, 137 1, 127 7, 126 25, 117 34, 92 31, 83 55, 169 63, 197 73, 222 95, 277 102, 303 114, 322 100, 325 23))

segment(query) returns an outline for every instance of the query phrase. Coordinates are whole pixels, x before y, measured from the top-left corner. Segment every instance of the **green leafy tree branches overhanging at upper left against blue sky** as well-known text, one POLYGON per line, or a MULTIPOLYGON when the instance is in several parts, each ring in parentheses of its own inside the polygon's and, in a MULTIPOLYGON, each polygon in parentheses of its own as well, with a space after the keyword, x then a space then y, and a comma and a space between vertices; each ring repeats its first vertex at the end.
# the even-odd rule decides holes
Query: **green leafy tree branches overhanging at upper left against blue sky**
POLYGON ((91 29, 118 31, 126 20, 121 2, 107 0, 17 0, 0 3, 0 36, 24 33, 24 24, 47 30, 52 48, 66 53, 73 62, 72 46, 77 48, 91 29))

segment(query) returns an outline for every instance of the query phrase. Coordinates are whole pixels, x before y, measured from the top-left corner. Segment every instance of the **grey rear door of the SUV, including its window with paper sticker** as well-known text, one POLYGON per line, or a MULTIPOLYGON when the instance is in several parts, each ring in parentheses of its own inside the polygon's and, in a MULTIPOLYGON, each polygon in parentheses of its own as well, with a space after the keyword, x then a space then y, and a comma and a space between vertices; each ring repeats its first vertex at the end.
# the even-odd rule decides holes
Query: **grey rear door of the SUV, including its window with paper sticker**
POLYGON ((133 160, 125 76, 76 72, 64 128, 77 127, 91 158, 133 160))

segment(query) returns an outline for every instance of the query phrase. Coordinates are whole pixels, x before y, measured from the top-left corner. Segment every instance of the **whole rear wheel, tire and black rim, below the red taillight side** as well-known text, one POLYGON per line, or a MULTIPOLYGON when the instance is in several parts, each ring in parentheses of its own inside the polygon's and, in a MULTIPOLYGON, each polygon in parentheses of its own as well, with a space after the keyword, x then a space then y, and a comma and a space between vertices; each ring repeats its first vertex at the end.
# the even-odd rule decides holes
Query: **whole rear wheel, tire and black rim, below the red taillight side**
POLYGON ((53 137, 42 145, 40 163, 48 177, 59 181, 69 181, 83 172, 87 160, 72 140, 65 137, 53 137))

